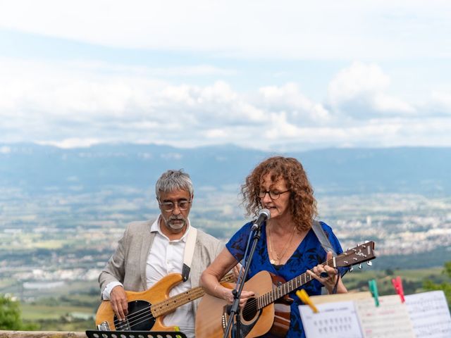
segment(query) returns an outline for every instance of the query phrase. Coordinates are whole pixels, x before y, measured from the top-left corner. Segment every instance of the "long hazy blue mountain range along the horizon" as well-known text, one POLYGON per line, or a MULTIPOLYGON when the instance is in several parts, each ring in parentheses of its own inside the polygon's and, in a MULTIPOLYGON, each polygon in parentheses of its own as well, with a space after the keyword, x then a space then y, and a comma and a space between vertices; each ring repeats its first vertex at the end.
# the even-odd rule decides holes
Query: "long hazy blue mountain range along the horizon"
MULTIPOLYGON (((197 188, 237 190, 254 165, 271 155, 232 145, 179 149, 104 144, 59 149, 0 144, 0 185, 30 193, 73 187, 89 192, 109 185, 142 188, 152 187, 164 170, 184 168, 197 188)), ((284 155, 303 163, 317 194, 451 192, 451 148, 321 149, 284 155)))

